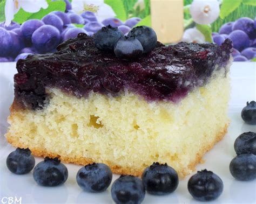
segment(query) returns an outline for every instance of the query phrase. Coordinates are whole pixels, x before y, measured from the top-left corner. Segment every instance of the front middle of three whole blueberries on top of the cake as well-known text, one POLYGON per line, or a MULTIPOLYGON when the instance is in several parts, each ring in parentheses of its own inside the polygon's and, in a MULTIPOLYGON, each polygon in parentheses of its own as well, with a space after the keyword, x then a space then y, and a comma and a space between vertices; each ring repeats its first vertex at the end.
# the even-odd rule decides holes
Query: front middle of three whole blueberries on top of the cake
POLYGON ((122 59, 136 59, 143 54, 142 44, 134 36, 120 39, 114 47, 114 54, 122 59))

